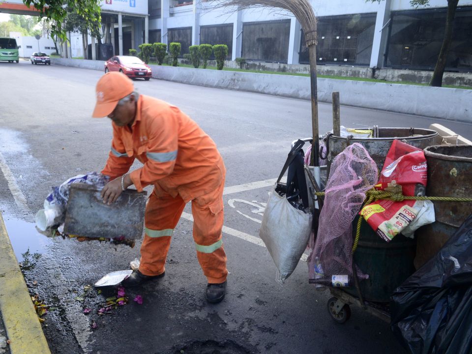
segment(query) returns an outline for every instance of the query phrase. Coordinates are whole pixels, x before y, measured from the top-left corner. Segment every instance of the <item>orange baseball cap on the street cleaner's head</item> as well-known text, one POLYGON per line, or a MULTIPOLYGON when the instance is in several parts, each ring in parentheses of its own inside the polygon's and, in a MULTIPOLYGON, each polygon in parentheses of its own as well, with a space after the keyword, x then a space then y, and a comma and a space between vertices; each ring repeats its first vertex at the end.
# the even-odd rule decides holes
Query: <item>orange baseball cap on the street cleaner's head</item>
POLYGON ((113 112, 118 101, 134 91, 133 82, 118 71, 110 71, 103 75, 95 88, 97 103, 92 117, 102 118, 113 112))

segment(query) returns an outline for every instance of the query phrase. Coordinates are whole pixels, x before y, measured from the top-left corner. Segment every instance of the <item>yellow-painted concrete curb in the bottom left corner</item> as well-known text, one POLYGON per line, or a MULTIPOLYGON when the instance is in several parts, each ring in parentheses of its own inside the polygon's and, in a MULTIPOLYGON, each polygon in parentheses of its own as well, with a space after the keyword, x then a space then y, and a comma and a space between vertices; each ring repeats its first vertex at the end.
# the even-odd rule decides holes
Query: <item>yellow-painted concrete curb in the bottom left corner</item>
POLYGON ((11 354, 50 354, 0 213, 0 311, 11 354))

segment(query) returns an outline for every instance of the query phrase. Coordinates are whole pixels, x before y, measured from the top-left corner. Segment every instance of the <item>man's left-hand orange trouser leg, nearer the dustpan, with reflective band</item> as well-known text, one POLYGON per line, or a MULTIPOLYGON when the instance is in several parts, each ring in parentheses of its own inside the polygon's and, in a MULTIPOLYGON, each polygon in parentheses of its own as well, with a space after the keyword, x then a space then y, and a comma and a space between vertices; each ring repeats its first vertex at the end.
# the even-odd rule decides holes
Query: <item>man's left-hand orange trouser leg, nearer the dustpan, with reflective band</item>
POLYGON ((184 201, 178 196, 157 197, 151 193, 146 206, 146 234, 141 245, 139 270, 143 274, 158 275, 165 271, 171 236, 184 207, 184 201))

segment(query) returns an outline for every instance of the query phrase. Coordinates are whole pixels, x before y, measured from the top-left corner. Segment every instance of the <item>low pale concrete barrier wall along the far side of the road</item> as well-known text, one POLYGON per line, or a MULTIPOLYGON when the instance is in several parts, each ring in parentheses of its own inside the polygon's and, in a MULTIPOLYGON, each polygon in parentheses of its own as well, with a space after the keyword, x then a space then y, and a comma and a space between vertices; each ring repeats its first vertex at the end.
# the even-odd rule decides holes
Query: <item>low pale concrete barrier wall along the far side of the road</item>
MULTIPOLYGON (((103 61, 56 59, 53 64, 103 70, 103 61)), ((310 99, 310 78, 150 65, 155 79, 222 89, 310 99)), ((318 99, 331 102, 339 91, 341 104, 427 117, 472 122, 472 90, 318 79, 318 99)))

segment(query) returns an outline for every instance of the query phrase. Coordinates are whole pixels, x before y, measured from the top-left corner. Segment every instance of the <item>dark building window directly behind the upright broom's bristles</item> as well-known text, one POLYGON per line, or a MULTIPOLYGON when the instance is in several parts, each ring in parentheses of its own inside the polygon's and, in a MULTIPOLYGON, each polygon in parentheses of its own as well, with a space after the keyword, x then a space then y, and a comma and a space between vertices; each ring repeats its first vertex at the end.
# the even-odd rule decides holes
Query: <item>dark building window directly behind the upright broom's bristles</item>
MULTIPOLYGON (((318 18, 317 63, 369 65, 375 19, 370 13, 318 18)), ((300 64, 310 62, 303 31, 299 54, 300 64)))

